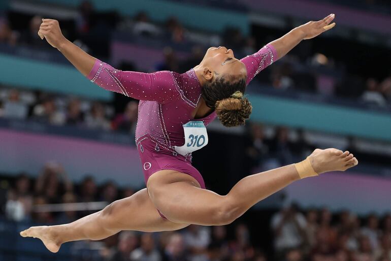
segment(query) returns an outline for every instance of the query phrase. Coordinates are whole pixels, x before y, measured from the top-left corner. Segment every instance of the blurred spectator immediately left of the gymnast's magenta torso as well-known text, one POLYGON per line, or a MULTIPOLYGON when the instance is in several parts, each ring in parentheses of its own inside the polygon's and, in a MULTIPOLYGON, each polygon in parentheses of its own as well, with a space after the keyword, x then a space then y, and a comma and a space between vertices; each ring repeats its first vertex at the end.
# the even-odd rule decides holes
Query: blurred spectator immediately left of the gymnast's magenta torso
POLYGON ((137 113, 139 104, 136 101, 131 101, 126 105, 123 114, 119 114, 113 120, 112 127, 116 131, 134 134, 137 123, 137 113))

